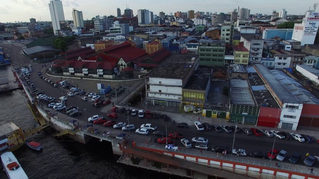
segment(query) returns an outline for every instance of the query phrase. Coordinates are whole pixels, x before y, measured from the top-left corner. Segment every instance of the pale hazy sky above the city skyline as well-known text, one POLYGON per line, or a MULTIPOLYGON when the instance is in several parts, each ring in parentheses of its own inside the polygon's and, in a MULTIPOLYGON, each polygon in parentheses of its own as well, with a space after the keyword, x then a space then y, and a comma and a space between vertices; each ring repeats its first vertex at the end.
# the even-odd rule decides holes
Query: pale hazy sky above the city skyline
MULTIPOLYGON (((83 18, 91 19, 96 15, 117 15, 117 8, 129 7, 134 16, 138 9, 148 9, 154 14, 160 11, 168 14, 176 11, 187 10, 204 12, 231 12, 233 9, 248 8, 251 14, 271 14, 273 10, 279 12, 286 8, 288 14, 303 15, 319 0, 61 0, 66 20, 72 20, 72 9, 76 8, 83 12, 83 18)), ((51 21, 48 4, 50 0, 1 0, 0 22, 51 21)), ((319 7, 317 8, 319 11, 319 7)))

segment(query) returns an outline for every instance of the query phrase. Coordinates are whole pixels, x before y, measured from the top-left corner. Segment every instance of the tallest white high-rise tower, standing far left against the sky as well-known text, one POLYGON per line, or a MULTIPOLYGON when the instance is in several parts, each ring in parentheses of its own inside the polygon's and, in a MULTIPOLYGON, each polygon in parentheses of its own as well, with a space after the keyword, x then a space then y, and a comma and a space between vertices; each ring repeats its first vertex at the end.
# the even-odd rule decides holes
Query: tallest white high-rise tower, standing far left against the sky
POLYGON ((49 9, 54 35, 59 35, 59 30, 61 30, 60 21, 65 20, 62 1, 50 0, 49 9))

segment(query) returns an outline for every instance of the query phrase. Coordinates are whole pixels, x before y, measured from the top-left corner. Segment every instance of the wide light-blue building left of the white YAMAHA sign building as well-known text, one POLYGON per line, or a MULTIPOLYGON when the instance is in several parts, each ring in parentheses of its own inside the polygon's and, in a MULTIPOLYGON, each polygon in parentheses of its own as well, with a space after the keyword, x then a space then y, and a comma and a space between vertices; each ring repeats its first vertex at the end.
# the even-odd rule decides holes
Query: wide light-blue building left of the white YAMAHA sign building
POLYGON ((264 29, 263 39, 271 39, 280 37, 283 40, 291 40, 293 37, 294 29, 264 29))

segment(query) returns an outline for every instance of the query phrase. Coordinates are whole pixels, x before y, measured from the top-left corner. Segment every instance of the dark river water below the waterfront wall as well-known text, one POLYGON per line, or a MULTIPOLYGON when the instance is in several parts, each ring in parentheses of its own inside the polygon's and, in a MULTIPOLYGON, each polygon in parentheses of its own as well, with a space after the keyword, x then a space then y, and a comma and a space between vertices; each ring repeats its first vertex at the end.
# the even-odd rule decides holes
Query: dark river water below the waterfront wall
MULTIPOLYGON (((0 67, 0 77, 14 79, 9 66, 0 67)), ((12 121, 22 129, 32 128, 36 121, 27 102, 23 90, 0 93, 0 125, 12 121)), ((112 155, 106 143, 57 140, 51 136, 54 132, 48 129, 30 137, 43 145, 40 153, 27 146, 13 152, 29 179, 182 179, 118 164, 119 156, 112 155)), ((2 169, 0 179, 7 179, 2 169)))

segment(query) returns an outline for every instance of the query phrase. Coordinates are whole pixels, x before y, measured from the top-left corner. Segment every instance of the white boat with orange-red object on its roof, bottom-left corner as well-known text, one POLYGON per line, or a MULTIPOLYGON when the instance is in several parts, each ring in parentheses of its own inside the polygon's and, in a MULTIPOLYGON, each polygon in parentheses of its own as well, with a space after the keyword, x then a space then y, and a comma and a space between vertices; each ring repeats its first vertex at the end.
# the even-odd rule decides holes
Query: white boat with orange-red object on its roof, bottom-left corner
POLYGON ((9 179, 28 179, 12 152, 3 153, 1 155, 1 163, 9 179))

